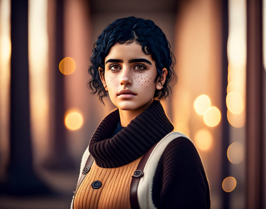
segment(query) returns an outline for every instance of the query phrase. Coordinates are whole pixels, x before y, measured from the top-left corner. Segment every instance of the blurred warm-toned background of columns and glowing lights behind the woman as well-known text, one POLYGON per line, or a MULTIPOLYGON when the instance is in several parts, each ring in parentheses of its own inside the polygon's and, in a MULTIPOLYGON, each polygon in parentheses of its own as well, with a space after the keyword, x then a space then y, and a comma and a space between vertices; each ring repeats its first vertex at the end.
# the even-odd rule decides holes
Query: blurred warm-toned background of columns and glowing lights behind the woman
POLYGON ((151 19, 176 58, 162 105, 196 145, 211 208, 266 208, 266 0, 0 0, 0 208, 70 208, 102 119, 93 44, 117 18, 151 19))

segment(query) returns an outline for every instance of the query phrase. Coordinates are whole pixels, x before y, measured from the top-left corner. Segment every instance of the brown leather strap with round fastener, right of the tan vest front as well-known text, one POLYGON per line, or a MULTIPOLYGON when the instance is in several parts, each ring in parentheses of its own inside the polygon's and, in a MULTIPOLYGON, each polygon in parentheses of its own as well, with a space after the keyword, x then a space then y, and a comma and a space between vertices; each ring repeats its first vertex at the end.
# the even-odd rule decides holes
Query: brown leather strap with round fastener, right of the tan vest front
POLYGON ((157 144, 158 142, 155 143, 150 149, 148 149, 147 152, 144 153, 144 155, 142 156, 138 164, 137 170, 134 172, 134 175, 132 176, 132 180, 130 184, 130 193, 129 193, 130 205, 132 209, 140 209, 138 198, 137 198, 138 184, 139 184, 140 178, 143 177, 144 175, 143 170, 151 155, 151 152, 153 151, 153 149, 155 148, 157 144))

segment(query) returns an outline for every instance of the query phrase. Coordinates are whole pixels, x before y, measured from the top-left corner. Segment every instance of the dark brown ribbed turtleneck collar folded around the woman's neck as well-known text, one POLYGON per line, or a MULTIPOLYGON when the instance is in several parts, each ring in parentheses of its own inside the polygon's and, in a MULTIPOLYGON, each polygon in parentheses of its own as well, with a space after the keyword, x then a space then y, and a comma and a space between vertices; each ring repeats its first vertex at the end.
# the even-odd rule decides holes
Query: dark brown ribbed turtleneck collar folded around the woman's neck
POLYGON ((91 137, 89 152, 99 167, 115 168, 134 161, 174 129, 159 100, 153 100, 146 110, 110 138, 119 120, 116 108, 102 120, 91 137))

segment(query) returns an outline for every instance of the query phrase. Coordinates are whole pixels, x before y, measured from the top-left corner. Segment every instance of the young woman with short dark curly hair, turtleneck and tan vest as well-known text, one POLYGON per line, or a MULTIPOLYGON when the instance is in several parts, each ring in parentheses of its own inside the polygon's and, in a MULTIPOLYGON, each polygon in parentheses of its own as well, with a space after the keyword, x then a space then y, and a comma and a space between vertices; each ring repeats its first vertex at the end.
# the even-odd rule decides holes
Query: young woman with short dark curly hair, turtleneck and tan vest
POLYGON ((160 103, 175 76, 162 30, 151 20, 117 19, 92 51, 89 86, 117 108, 83 154, 71 208, 210 208, 197 148, 173 132, 160 103))

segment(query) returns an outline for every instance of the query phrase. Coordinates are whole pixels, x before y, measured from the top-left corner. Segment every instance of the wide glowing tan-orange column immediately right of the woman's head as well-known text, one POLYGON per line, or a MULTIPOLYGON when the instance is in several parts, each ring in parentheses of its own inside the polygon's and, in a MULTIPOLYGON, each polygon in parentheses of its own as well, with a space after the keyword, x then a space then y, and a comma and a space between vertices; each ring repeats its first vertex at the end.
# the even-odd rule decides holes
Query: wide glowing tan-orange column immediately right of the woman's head
POLYGON ((210 185, 212 208, 222 208, 221 179, 223 170, 228 170, 222 167, 226 160, 223 139, 228 134, 223 133, 226 118, 222 76, 226 49, 222 48, 222 32, 226 25, 222 25, 222 4, 212 0, 178 1, 175 26, 178 82, 173 88, 173 124, 175 131, 190 137, 200 153, 210 185), (206 100, 198 104, 200 96, 206 100), (203 111, 197 112, 196 107, 203 111))

